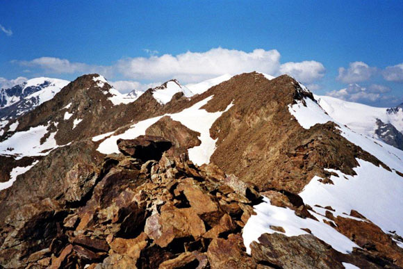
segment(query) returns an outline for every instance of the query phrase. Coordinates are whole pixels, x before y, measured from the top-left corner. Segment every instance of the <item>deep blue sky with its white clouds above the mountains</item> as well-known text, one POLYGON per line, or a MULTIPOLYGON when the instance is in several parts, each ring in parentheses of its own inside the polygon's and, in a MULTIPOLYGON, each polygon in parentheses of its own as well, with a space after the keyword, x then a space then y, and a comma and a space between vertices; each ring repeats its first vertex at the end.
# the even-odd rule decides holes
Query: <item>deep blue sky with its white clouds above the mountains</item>
POLYGON ((403 101, 402 48, 403 1, 0 2, 4 84, 99 72, 124 92, 253 69, 392 106, 403 101))

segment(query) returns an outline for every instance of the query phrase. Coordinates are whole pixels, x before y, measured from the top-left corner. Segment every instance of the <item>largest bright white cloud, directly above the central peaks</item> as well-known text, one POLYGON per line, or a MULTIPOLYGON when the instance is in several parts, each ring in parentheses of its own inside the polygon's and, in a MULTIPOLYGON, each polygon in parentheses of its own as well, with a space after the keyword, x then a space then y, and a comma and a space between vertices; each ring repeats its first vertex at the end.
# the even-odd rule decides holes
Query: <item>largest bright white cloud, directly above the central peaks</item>
POLYGON ((252 52, 235 49, 210 49, 206 52, 191 52, 172 56, 149 58, 126 58, 118 61, 117 70, 130 79, 176 78, 184 83, 211 79, 222 74, 239 74, 259 71, 268 74, 279 70, 279 51, 254 49, 252 52))

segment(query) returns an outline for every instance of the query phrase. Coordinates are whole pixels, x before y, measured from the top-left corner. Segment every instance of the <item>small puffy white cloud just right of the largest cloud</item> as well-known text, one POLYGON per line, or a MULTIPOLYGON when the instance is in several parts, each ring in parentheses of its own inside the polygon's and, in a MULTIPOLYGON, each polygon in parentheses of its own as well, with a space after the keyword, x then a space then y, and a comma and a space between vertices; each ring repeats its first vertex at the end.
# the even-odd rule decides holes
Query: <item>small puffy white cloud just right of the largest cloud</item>
POLYGON ((304 60, 300 63, 284 63, 280 66, 282 74, 290 74, 297 80, 304 83, 312 83, 324 76, 324 66, 315 60, 304 60))

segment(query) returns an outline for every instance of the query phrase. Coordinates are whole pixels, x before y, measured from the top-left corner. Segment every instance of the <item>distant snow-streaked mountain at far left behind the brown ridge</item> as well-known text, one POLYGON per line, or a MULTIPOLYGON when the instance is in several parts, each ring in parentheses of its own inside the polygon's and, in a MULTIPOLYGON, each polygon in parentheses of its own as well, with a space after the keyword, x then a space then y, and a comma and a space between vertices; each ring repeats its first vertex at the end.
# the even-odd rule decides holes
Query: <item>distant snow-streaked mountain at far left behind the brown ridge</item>
POLYGON ((0 89, 0 120, 13 120, 52 99, 69 81, 39 77, 0 89))

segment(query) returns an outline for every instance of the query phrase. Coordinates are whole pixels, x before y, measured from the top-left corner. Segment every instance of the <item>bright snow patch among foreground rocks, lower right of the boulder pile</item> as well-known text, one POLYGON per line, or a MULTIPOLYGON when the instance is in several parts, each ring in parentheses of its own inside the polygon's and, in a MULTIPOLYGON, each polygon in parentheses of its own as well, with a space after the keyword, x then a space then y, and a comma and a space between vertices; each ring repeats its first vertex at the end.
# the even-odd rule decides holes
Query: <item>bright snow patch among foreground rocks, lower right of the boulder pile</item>
POLYGON ((267 197, 263 197, 261 204, 254 206, 254 211, 256 215, 252 215, 249 218, 242 231, 242 238, 248 254, 251 253, 250 243, 253 241, 258 242, 258 238, 261 234, 279 232, 270 229, 271 225, 283 227, 286 231, 286 233, 284 233, 286 236, 308 234, 306 231, 302 230, 302 228, 308 228, 311 230, 313 236, 328 243, 335 250, 345 254, 352 252, 353 247, 359 247, 350 241, 349 238, 340 234, 324 222, 318 222, 311 218, 299 218, 295 215, 295 211, 291 209, 272 206, 270 199, 267 197))

